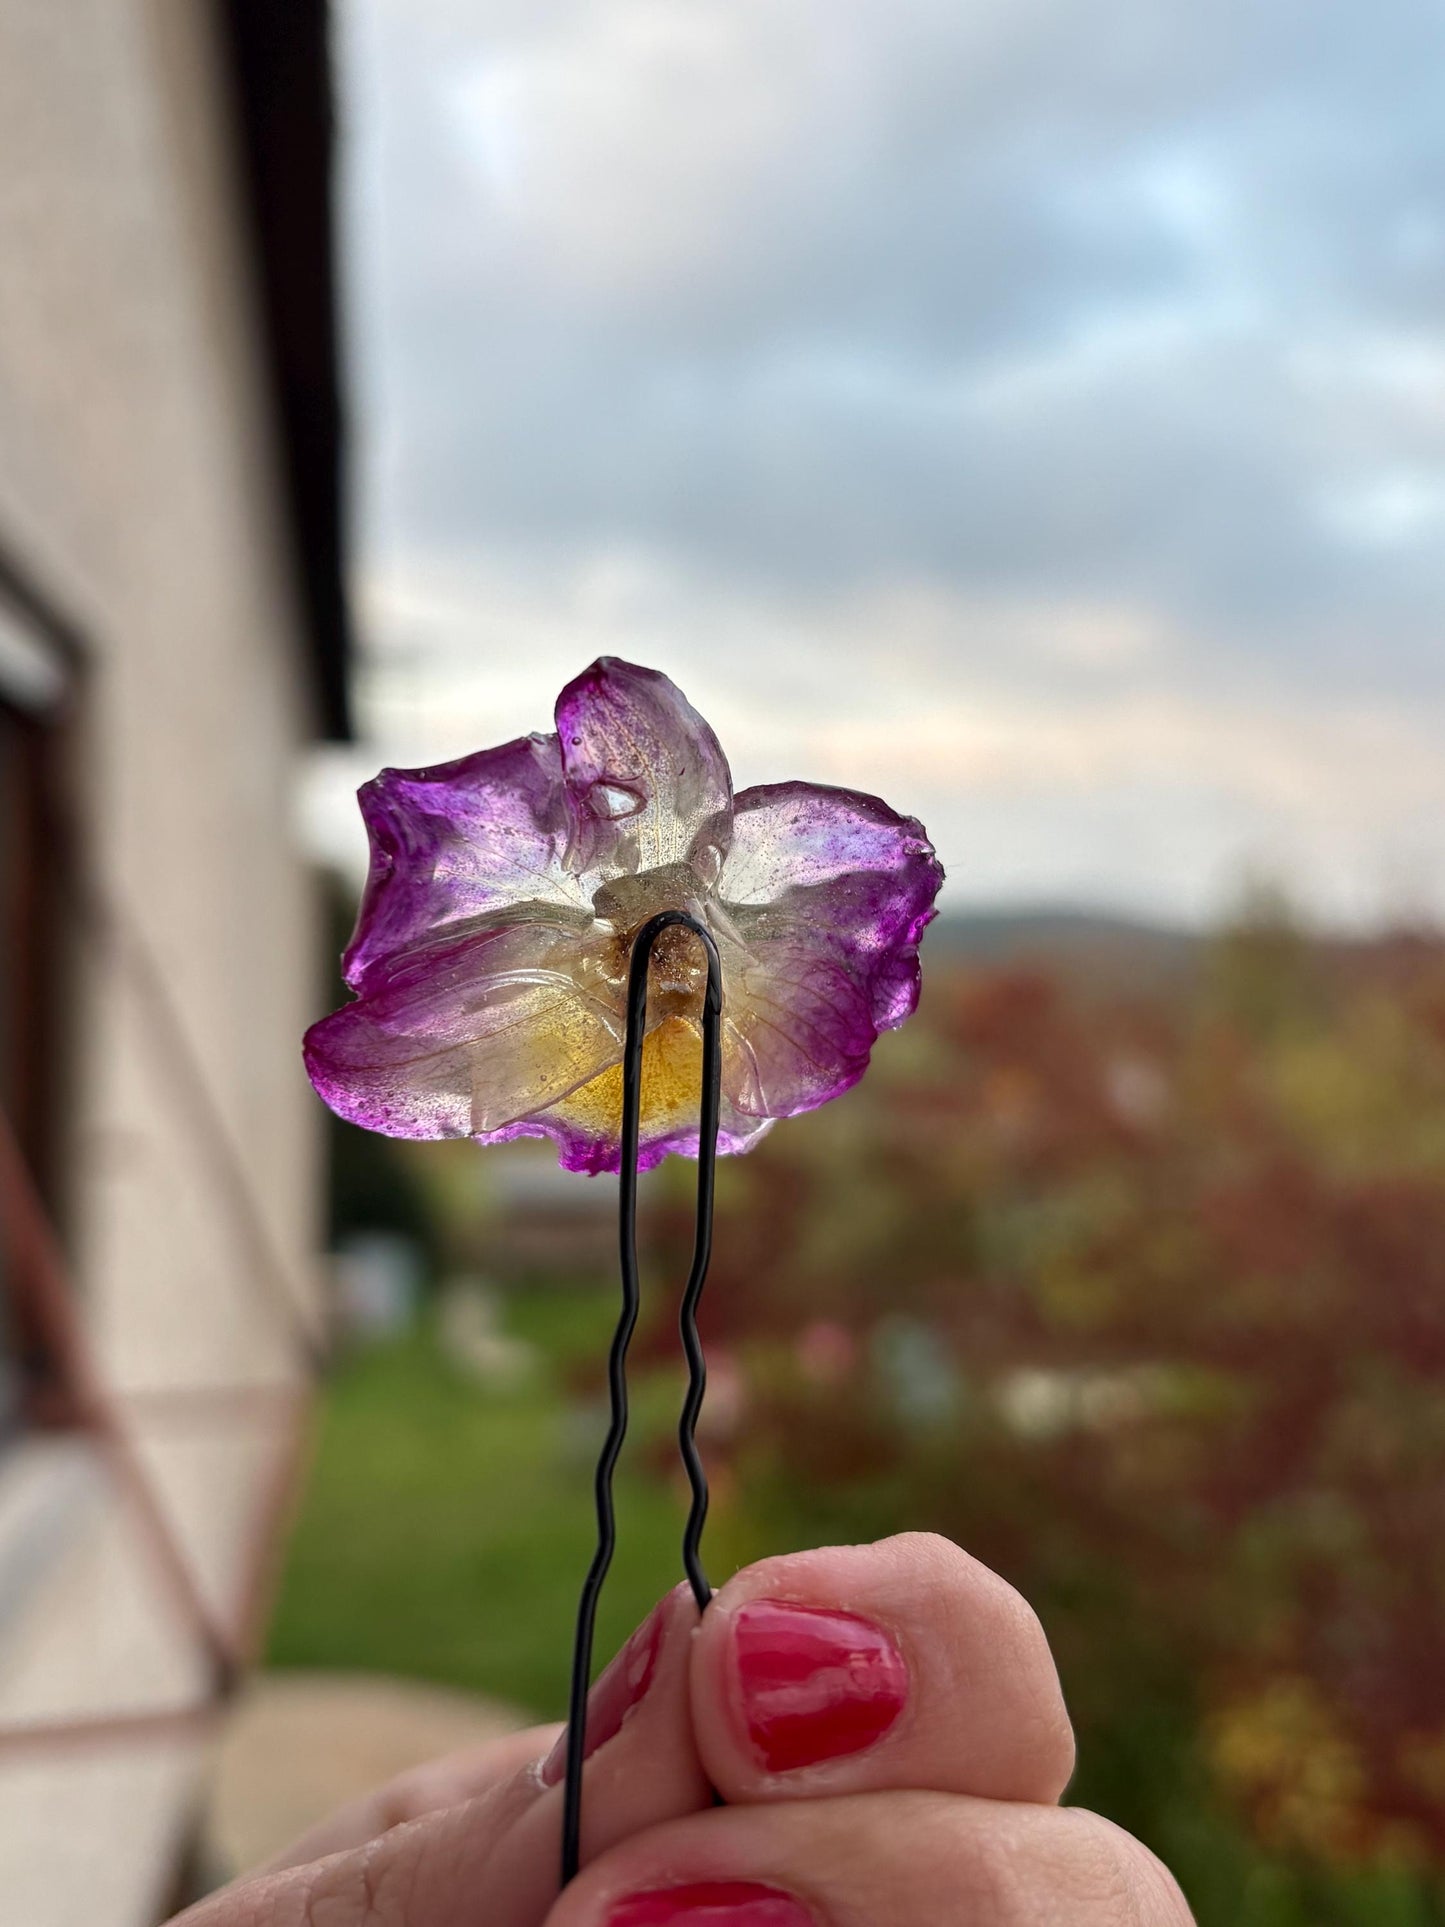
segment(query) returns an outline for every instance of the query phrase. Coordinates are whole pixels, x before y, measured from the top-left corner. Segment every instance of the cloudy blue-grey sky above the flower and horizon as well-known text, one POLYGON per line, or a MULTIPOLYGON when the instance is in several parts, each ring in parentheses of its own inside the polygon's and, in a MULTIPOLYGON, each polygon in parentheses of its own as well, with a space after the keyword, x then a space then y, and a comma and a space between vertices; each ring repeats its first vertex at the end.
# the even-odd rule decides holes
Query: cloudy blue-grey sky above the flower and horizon
POLYGON ((952 904, 1445 911, 1439 0, 343 0, 364 742, 667 669, 952 904))

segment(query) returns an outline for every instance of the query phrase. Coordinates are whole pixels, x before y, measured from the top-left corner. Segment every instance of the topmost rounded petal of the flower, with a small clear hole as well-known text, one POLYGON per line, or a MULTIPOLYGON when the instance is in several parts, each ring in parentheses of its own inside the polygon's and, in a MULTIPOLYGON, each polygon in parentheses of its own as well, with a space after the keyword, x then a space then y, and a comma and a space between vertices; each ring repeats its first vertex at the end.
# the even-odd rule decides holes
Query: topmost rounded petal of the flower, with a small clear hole
POLYGON ((732 777, 717 736, 667 676, 601 657, 557 698, 576 869, 690 863, 703 884, 728 846, 732 777))

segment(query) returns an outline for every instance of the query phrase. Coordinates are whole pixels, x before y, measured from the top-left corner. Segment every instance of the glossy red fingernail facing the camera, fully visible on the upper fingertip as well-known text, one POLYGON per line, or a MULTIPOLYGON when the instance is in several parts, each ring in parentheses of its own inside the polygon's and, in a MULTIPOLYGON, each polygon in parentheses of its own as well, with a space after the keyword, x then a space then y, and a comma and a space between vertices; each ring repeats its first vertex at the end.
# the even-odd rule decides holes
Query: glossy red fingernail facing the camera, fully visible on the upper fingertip
POLYGON ((732 1663, 767 1773, 861 1754, 907 1703, 904 1655, 855 1613, 751 1599, 732 1615, 732 1663))

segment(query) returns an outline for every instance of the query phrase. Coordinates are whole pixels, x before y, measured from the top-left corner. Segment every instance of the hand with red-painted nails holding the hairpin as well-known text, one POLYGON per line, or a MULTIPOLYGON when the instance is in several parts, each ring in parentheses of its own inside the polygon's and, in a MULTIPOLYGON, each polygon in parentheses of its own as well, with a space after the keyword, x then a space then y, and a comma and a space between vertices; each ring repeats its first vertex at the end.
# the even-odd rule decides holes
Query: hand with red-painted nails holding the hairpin
POLYGON ((175 1927, 1191 1927, 1058 1798, 1038 1621, 946 1540, 678 1588, 593 1686, 584 1869, 557 1894, 557 1729, 420 1769, 175 1927), (711 1788, 728 1802, 713 1806, 711 1788))

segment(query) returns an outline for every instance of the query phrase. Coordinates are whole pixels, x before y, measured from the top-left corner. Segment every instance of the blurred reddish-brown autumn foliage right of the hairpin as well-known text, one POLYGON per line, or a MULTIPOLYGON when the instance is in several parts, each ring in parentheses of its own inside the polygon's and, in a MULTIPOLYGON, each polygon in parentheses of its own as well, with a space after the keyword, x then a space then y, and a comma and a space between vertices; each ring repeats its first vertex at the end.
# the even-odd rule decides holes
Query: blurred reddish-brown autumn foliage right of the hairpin
POLYGON ((1445 1919, 1445 946, 1266 902, 1143 989, 925 977, 855 1093, 721 1172, 724 1503, 1008 1574, 1073 1796, 1202 1921, 1445 1919))

